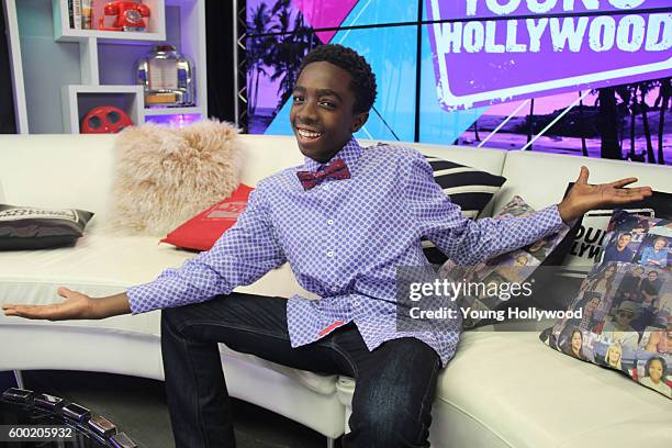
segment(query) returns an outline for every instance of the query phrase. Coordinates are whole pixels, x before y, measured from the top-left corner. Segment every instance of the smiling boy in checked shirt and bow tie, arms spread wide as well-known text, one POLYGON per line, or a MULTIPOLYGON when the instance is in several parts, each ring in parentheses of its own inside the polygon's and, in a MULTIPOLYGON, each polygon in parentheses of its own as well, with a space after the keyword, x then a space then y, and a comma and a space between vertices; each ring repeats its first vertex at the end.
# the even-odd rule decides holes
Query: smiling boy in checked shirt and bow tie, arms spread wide
POLYGON ((291 122, 302 167, 259 182, 246 211, 214 247, 154 282, 110 298, 60 289, 46 306, 5 304, 29 318, 101 318, 164 309, 161 347, 178 447, 233 447, 231 405, 216 343, 299 369, 356 378, 346 447, 427 446, 436 379, 460 323, 396 332, 395 267, 427 266, 427 236, 455 261, 477 264, 529 245, 585 211, 650 189, 636 179, 589 186, 582 169, 568 198, 527 217, 466 220, 416 150, 362 148, 352 138, 376 99, 376 78, 354 51, 310 53, 293 91, 291 122), (232 293, 288 261, 322 300, 232 293))

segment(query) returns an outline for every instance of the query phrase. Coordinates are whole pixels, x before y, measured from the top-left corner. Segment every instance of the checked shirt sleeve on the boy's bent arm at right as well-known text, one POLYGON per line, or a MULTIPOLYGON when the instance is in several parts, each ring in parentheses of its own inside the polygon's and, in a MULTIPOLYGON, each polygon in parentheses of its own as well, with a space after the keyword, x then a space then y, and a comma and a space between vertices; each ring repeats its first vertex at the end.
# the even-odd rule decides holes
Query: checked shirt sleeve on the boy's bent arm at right
POLYGON ((475 265, 529 245, 564 227, 557 205, 524 217, 469 220, 434 181, 432 167, 417 152, 411 156, 405 184, 411 215, 421 236, 458 265, 475 265))

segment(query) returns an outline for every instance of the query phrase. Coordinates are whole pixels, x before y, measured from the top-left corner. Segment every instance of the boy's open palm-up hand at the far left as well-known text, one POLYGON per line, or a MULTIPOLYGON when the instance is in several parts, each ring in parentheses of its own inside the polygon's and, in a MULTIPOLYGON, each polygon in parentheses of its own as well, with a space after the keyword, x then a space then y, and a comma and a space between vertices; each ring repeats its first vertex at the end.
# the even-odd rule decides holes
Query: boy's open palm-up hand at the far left
POLYGON ((64 298, 60 303, 49 305, 15 305, 2 304, 5 316, 25 318, 42 318, 48 321, 65 321, 72 318, 97 318, 93 312, 93 299, 67 288, 58 288, 58 295, 64 298))

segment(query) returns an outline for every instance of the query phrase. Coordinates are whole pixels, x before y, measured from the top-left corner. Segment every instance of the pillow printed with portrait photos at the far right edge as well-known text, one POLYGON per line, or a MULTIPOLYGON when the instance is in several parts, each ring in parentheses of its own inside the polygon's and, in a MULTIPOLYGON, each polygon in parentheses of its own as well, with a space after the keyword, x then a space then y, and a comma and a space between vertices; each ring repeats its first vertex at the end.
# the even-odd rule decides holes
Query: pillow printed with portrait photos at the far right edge
POLYGON ((540 338, 672 399, 672 223, 615 211, 602 255, 540 338))

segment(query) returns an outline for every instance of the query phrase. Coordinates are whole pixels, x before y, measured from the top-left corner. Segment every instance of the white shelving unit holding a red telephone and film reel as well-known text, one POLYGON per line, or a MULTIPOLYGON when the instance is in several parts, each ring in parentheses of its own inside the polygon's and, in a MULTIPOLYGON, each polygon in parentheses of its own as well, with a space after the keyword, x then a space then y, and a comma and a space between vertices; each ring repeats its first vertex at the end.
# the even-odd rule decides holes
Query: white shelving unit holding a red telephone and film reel
POLYGON ((208 116, 205 0, 142 2, 150 10, 146 32, 70 29, 67 0, 4 1, 19 133, 79 133, 96 105, 119 107, 136 124, 208 116), (158 43, 193 63, 194 107, 145 108, 135 64, 158 43))

